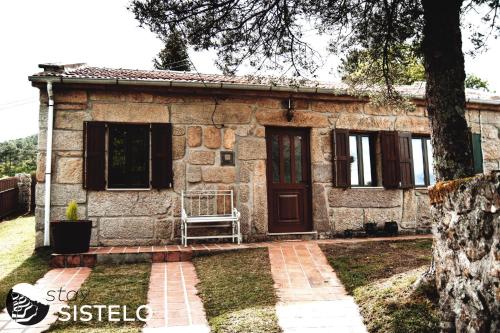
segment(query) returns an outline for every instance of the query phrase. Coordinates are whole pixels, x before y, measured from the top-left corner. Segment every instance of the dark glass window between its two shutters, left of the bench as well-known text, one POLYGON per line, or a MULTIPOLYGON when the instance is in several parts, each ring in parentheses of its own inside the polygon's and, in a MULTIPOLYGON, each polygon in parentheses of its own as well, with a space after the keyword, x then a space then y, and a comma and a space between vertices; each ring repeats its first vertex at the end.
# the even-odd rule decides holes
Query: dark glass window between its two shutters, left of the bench
POLYGON ((108 187, 149 188, 149 126, 108 126, 108 187))

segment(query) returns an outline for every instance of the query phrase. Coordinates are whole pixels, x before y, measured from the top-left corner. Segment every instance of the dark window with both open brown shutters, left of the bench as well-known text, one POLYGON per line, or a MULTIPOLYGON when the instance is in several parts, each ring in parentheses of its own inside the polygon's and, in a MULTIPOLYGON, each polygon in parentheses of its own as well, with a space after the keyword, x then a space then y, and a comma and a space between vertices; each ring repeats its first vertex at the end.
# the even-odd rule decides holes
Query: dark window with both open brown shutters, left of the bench
POLYGON ((171 124, 86 121, 83 142, 87 190, 173 186, 171 124))

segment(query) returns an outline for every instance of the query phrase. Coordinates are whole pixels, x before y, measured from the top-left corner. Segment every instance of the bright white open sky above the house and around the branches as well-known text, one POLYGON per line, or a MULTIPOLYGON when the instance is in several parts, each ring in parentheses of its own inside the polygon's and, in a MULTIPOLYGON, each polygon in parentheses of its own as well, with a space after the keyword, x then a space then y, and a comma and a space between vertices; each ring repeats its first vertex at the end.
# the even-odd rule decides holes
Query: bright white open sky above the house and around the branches
MULTIPOLYGON (((0 142, 38 132, 38 89, 28 81, 46 62, 151 69, 162 47, 160 40, 140 28, 127 10, 129 0, 24 0, 0 4, 0 142)), ((326 54, 326 38, 307 36, 326 54)), ((464 41, 465 47, 467 42, 464 41)), ((217 73, 213 52, 190 52, 196 69, 217 73)), ((336 81, 338 59, 325 56, 318 72, 322 81, 336 81)), ((466 57, 466 72, 489 81, 500 94, 500 39, 488 51, 466 57)), ((238 74, 253 73, 244 68, 238 74)), ((261 73, 264 74, 264 73, 261 73)))

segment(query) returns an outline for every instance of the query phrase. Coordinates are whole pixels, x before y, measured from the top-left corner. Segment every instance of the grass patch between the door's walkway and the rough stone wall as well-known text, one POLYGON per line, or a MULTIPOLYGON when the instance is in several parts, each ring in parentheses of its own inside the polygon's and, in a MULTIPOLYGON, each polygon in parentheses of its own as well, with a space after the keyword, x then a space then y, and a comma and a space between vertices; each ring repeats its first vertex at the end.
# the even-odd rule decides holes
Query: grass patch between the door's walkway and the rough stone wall
POLYGON ((412 285, 431 261, 431 240, 323 245, 328 261, 354 295, 370 332, 439 332, 434 291, 412 285))

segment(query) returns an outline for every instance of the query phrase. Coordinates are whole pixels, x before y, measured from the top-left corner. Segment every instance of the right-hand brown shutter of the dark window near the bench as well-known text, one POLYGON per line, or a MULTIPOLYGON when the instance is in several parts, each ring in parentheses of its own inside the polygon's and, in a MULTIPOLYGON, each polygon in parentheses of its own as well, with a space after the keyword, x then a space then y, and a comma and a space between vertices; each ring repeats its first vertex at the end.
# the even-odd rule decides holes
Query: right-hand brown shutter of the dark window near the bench
POLYGON ((153 188, 173 186, 172 124, 151 124, 151 169, 153 188))

